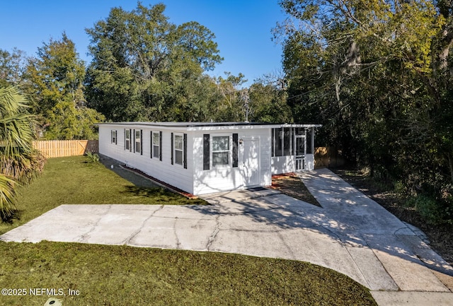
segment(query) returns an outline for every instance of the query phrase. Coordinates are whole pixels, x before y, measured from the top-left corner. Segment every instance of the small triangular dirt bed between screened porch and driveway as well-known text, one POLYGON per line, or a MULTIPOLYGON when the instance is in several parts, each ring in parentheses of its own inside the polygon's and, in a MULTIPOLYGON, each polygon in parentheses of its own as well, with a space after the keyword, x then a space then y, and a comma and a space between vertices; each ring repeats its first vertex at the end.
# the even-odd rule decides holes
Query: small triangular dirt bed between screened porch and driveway
POLYGON ((276 189, 287 196, 292 196, 295 199, 321 207, 319 202, 310 194, 309 190, 306 189, 302 180, 294 173, 273 175, 272 186, 270 186, 270 188, 276 189))

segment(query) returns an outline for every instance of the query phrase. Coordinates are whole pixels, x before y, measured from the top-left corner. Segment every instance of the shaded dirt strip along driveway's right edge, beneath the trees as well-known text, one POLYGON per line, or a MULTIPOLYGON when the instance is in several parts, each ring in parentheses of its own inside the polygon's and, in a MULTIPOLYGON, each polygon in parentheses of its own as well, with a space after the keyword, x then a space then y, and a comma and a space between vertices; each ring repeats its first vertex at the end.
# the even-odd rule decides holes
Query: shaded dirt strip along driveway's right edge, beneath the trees
POLYGON ((366 194, 398 219, 410 223, 428 236, 430 245, 445 261, 453 265, 453 225, 430 225, 415 211, 404 205, 404 199, 382 183, 355 170, 334 170, 343 180, 366 194))

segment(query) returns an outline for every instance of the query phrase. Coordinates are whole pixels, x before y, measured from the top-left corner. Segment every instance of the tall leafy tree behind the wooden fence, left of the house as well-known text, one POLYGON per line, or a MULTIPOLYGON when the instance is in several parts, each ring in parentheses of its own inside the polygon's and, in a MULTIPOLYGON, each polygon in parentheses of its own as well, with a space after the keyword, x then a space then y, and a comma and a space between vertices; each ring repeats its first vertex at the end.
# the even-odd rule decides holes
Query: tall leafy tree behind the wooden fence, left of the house
POLYGON ((25 90, 35 100, 47 139, 93 139, 93 124, 103 116, 86 106, 83 81, 85 63, 74 42, 63 33, 62 40, 50 40, 38 48, 38 57, 28 61, 25 90))

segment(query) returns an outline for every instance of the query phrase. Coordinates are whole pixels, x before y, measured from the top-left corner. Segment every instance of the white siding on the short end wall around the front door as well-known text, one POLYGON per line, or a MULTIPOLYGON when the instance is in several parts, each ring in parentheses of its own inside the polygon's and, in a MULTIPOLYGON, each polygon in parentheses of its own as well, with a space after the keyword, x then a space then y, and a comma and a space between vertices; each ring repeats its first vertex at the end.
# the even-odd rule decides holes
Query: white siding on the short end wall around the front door
MULTIPOLYGON (((259 181, 257 185, 268 186, 271 184, 270 175, 270 130, 269 129, 229 129, 228 131, 197 131, 194 134, 193 152, 197 156, 194 160, 194 193, 207 194, 234 189, 246 188, 243 177, 243 144, 238 146, 238 167, 232 167, 232 148, 230 146, 229 166, 212 167, 212 151, 210 150, 210 170, 203 170, 203 134, 212 136, 230 136, 238 134, 238 139, 246 141, 253 139, 259 141, 259 181)), ((231 143, 231 141, 230 141, 231 143)), ((212 147, 212 142, 210 142, 212 147)))

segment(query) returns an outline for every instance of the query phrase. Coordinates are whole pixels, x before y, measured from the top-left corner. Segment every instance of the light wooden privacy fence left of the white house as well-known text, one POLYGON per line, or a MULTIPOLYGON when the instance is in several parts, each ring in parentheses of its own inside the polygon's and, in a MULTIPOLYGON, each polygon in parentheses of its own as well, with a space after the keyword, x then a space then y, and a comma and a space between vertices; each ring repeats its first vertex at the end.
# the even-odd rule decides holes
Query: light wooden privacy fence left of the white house
POLYGON ((99 152, 98 140, 46 140, 34 141, 33 147, 46 158, 84 155, 86 152, 99 152))

